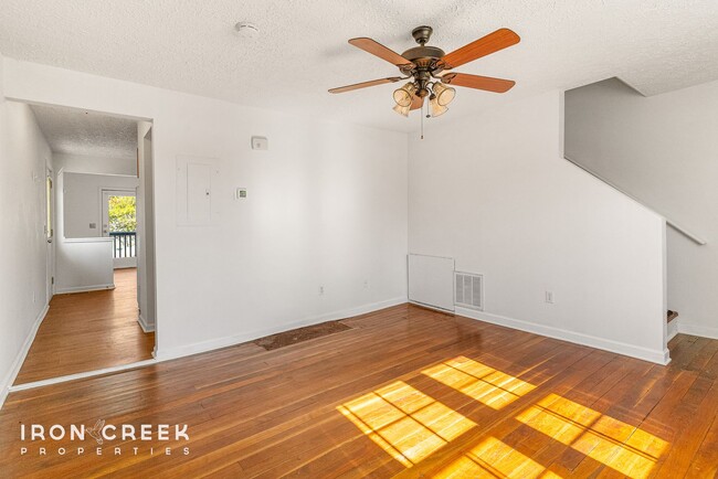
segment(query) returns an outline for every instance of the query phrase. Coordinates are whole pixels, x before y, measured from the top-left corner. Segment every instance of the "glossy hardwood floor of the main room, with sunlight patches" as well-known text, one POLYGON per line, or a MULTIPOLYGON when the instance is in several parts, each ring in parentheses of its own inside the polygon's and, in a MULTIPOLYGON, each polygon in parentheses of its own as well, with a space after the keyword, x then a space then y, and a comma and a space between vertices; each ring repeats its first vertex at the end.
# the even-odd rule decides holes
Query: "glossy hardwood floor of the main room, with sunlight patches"
POLYGON ((718 341, 680 334, 673 363, 661 366, 408 305, 342 322, 352 329, 274 351, 245 343, 12 393, 0 412, 0 470, 53 478, 716 475, 718 341), (187 424, 189 440, 20 440, 21 425, 98 419, 118 434, 123 424, 187 424))

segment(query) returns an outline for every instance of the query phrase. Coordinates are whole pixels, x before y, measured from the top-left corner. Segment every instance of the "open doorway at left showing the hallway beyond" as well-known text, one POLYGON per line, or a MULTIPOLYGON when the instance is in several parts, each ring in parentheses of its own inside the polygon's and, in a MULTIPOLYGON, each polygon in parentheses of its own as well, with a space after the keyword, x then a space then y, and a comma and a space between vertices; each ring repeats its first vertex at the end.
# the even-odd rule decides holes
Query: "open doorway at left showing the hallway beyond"
POLYGON ((30 108, 52 150, 45 231, 51 300, 14 385, 150 360, 151 123, 30 108))

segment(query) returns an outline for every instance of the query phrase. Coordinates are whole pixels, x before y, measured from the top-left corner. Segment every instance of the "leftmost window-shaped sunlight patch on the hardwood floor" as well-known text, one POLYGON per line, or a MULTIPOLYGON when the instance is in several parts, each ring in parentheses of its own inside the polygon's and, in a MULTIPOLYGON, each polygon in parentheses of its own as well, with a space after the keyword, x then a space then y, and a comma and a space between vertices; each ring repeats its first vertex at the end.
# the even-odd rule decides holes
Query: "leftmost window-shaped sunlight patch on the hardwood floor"
POLYGON ((418 464, 476 423, 397 381, 337 409, 405 467, 418 464))

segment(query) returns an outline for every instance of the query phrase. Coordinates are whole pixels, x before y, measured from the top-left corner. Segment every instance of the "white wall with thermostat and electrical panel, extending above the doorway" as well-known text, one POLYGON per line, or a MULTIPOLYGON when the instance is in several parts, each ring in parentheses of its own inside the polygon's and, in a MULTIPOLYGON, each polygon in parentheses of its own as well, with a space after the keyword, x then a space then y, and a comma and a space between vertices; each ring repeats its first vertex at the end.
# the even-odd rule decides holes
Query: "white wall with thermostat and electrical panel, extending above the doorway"
POLYGON ((10 58, 4 82, 10 97, 154 119, 159 356, 405 300, 406 135, 10 58), (217 225, 177 225, 182 155, 219 159, 217 225))

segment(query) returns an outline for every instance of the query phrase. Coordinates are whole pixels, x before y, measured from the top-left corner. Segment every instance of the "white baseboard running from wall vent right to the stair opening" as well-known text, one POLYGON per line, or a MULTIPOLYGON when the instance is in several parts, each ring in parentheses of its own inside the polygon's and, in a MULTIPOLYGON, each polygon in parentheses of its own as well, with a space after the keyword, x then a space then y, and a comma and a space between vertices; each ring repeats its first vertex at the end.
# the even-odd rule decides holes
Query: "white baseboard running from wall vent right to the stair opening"
POLYGON ((535 322, 522 321, 520 319, 507 318, 505 316, 492 315, 489 312, 475 311, 473 309, 460 307, 456 308, 456 315, 478 321, 490 322, 493 324, 505 326, 521 331, 532 332, 539 336, 546 336, 548 338, 560 339, 577 344, 602 349, 605 351, 650 361, 657 364, 665 365, 671 362, 671 356, 667 348, 663 351, 652 350, 620 341, 613 341, 610 339, 596 338, 594 336, 583 334, 580 332, 567 331, 564 329, 553 328, 551 326, 537 324, 535 322))

